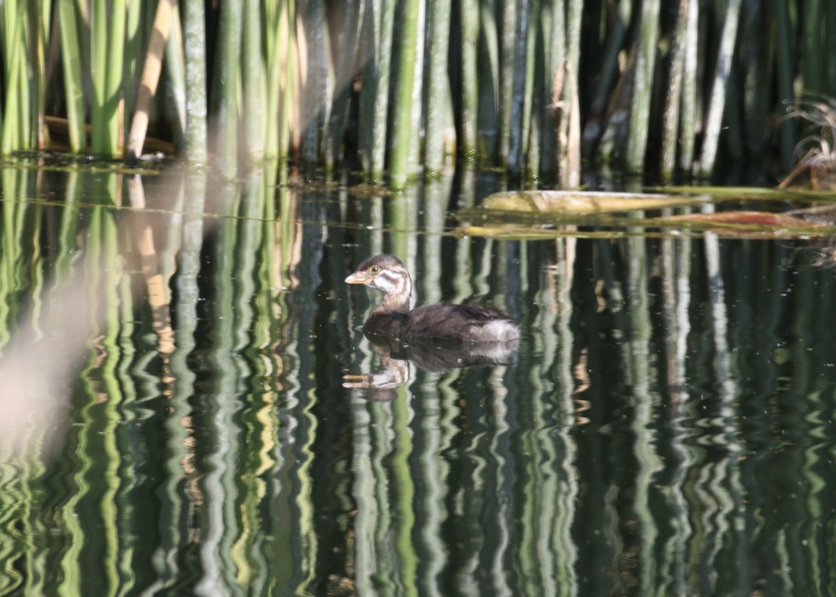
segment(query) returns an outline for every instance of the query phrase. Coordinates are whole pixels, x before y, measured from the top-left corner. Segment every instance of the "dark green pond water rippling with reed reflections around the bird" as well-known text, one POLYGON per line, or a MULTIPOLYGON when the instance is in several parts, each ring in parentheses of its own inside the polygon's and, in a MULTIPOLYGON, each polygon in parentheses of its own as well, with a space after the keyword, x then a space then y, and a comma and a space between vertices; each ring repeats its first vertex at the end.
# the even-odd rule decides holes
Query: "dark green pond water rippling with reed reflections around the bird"
POLYGON ((820 245, 456 238, 467 178, 0 180, 0 594, 836 594, 820 245), (511 362, 345 388, 384 250, 511 362))

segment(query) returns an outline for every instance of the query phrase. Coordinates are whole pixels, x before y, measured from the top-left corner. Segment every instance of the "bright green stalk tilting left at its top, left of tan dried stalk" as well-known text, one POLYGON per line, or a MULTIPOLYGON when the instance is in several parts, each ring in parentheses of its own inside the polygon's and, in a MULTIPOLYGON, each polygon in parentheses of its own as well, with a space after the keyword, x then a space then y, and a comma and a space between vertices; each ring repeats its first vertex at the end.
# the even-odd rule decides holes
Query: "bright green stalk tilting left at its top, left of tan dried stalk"
POLYGON ((83 57, 79 54, 79 26, 73 0, 59 0, 58 11, 69 148, 74 153, 80 153, 87 146, 87 132, 84 128, 84 87, 81 79, 83 57))

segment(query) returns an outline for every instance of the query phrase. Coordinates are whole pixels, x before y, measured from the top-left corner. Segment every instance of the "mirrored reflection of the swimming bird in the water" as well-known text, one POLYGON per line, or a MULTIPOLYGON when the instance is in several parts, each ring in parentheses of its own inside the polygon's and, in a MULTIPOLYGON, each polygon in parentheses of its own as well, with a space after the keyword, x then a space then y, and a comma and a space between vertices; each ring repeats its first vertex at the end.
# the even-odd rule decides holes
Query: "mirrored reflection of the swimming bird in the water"
POLYGON ((367 390, 372 401, 390 401, 401 385, 410 380, 411 365, 418 369, 445 373, 453 369, 481 365, 511 365, 519 344, 518 338, 497 342, 441 342, 413 339, 405 342, 375 334, 366 334, 380 358, 375 373, 344 375, 343 387, 367 390))

